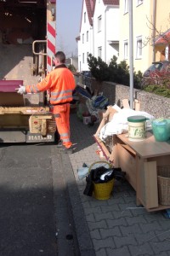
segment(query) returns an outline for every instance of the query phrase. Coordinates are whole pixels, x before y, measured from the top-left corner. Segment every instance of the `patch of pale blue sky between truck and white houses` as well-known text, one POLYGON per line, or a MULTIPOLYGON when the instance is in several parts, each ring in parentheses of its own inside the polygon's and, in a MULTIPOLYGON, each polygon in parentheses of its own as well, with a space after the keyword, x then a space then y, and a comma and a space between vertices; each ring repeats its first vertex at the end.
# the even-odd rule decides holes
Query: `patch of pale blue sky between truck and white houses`
POLYGON ((76 38, 79 36, 82 16, 82 0, 56 0, 57 50, 66 57, 77 55, 76 38))

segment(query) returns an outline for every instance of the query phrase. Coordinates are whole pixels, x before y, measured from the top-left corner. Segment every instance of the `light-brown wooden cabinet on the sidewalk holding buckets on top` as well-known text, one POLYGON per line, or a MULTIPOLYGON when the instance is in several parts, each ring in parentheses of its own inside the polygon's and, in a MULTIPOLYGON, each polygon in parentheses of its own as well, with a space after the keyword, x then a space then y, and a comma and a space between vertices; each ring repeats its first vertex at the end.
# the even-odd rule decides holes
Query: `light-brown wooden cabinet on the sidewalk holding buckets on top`
POLYGON ((128 140, 127 134, 116 136, 115 166, 127 172, 127 181, 136 191, 137 205, 143 205, 148 212, 170 208, 159 204, 157 166, 170 166, 170 144, 156 142, 146 133, 141 142, 128 140))

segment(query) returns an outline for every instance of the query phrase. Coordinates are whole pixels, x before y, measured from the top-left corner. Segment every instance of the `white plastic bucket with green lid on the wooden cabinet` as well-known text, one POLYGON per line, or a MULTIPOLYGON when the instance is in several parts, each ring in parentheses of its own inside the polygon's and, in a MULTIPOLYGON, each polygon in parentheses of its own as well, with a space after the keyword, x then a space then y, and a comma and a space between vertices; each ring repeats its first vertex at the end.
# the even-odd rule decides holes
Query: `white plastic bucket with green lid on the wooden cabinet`
POLYGON ((142 115, 129 116, 128 140, 133 142, 143 141, 146 137, 146 118, 142 115))

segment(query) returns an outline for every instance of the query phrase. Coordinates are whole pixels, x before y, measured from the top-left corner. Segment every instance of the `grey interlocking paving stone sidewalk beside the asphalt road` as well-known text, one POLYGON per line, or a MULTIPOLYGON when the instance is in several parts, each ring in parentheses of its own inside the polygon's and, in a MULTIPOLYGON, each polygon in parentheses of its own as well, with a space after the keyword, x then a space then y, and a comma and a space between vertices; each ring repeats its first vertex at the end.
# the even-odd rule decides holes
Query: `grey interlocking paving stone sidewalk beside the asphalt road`
POLYGON ((77 168, 99 160, 93 137, 98 126, 83 125, 77 114, 71 113, 71 139, 77 149, 69 158, 95 255, 170 255, 170 218, 165 217, 165 211, 147 212, 137 207, 136 193, 127 182, 116 181, 106 201, 83 195, 86 181, 79 180, 77 168))

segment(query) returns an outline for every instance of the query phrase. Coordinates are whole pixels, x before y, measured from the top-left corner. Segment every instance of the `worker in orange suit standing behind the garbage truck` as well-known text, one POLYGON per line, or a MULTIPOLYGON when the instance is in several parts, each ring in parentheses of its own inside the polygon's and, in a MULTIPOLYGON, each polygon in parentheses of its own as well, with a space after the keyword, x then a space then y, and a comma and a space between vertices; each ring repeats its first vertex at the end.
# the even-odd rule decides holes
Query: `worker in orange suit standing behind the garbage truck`
POLYGON ((72 92, 76 87, 71 71, 65 66, 65 54, 58 51, 54 55, 55 68, 37 85, 20 85, 19 94, 38 93, 44 90, 50 92, 50 104, 54 106, 54 117, 65 152, 72 153, 70 139, 70 102, 72 92))

